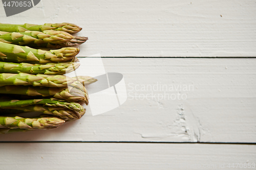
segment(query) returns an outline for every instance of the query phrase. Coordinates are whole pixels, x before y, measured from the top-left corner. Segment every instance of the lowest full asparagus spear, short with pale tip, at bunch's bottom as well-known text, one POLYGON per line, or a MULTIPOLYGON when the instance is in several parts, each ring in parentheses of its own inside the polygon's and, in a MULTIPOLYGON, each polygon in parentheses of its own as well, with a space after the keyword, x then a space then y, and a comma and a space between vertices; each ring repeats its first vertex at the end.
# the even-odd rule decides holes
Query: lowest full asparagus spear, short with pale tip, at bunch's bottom
POLYGON ((65 123, 57 117, 23 118, 0 116, 0 128, 10 129, 54 129, 65 123))

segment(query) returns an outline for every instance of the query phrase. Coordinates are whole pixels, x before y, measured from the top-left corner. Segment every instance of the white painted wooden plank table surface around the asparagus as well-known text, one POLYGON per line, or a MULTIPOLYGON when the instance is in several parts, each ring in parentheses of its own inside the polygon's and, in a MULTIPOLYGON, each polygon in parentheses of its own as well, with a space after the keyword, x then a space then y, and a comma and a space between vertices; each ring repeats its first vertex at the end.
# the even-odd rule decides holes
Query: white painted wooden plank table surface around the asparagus
POLYGON ((256 168, 255 1, 42 0, 10 17, 0 8, 3 23, 76 23, 89 37, 79 57, 100 53, 128 93, 56 130, 0 135, 0 169, 256 168), (144 88, 154 85, 186 98, 144 88))

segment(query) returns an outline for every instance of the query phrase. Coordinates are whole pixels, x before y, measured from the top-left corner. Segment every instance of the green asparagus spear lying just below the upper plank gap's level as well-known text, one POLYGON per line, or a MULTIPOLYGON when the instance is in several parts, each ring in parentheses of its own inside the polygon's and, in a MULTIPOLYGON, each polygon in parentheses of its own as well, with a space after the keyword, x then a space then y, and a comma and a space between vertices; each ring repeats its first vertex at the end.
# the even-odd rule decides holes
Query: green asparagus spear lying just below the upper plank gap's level
POLYGON ((75 62, 60 62, 47 64, 0 62, 0 72, 16 74, 18 74, 19 72, 24 72, 33 75, 64 75, 76 70, 79 65, 79 63, 75 62))

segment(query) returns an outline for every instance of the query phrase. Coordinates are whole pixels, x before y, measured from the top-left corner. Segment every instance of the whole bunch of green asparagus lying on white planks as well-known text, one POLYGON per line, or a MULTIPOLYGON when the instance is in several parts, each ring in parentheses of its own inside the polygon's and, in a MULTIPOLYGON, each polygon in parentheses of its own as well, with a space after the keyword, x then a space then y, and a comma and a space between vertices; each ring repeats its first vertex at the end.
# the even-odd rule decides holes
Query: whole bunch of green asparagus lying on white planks
POLYGON ((65 76, 80 65, 74 46, 88 38, 71 35, 80 30, 72 23, 0 23, 0 133, 54 129, 85 113, 84 86, 97 80, 65 76), (40 116, 19 116, 26 112, 40 116))

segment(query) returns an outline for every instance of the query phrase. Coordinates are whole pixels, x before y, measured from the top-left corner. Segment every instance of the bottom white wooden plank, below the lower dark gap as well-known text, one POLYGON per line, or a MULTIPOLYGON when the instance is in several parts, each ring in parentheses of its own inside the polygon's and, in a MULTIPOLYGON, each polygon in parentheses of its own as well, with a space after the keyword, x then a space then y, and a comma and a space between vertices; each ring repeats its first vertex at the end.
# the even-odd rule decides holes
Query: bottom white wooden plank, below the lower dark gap
POLYGON ((255 145, 234 144, 1 143, 0 150, 3 169, 255 169, 256 162, 255 145))

